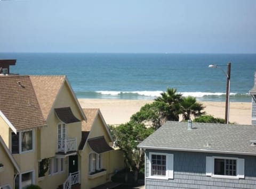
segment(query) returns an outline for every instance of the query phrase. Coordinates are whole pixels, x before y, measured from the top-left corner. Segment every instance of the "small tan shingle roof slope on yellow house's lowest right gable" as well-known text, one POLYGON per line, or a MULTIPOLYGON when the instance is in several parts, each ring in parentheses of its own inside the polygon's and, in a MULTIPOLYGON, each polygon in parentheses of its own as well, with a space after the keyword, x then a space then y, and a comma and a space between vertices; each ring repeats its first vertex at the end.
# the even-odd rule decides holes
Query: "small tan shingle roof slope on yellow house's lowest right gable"
POLYGON ((87 122, 82 122, 82 131, 90 131, 95 117, 99 113, 99 108, 83 108, 83 111, 87 118, 87 122))

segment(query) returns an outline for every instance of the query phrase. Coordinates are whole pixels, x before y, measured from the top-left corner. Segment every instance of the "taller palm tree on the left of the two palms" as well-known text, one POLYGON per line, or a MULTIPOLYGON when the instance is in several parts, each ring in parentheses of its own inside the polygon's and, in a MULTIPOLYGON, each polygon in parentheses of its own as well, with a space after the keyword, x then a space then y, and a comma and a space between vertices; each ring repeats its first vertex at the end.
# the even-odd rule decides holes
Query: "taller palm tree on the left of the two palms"
POLYGON ((179 121, 180 102, 182 95, 177 93, 177 89, 167 88, 166 92, 161 93, 161 97, 157 97, 156 101, 165 102, 169 109, 166 112, 166 119, 170 121, 179 121))

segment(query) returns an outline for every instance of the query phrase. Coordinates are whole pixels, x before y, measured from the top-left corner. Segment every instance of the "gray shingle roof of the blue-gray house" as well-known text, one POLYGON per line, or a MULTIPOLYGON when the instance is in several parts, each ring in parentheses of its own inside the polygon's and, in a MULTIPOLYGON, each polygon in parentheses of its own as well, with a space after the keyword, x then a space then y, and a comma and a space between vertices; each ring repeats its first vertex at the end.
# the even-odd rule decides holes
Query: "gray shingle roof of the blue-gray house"
POLYGON ((256 126, 193 123, 188 130, 186 122, 168 121, 138 148, 256 155, 250 140, 256 140, 256 126))

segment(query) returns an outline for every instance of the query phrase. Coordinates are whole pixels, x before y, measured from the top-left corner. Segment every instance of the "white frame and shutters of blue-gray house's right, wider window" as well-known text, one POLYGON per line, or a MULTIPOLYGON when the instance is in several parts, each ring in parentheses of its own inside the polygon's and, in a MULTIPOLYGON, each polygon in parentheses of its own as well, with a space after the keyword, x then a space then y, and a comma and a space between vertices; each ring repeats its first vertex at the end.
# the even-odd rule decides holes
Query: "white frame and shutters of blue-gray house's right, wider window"
POLYGON ((206 156, 206 176, 212 178, 239 179, 244 178, 244 159, 234 157, 217 157, 206 156), (214 175, 214 159, 231 159, 236 160, 236 176, 231 175, 214 175))

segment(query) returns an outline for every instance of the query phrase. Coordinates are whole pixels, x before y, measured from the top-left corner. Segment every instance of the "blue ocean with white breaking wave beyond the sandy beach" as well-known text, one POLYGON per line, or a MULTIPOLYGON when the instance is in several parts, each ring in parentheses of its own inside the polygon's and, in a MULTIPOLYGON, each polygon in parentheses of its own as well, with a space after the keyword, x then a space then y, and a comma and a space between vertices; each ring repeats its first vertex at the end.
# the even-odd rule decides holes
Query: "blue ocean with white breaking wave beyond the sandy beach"
POLYGON ((256 71, 256 54, 0 53, 0 59, 17 59, 10 70, 20 75, 67 75, 77 98, 151 100, 175 88, 198 101, 225 101, 231 62, 230 101, 251 102, 256 71))

